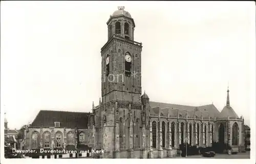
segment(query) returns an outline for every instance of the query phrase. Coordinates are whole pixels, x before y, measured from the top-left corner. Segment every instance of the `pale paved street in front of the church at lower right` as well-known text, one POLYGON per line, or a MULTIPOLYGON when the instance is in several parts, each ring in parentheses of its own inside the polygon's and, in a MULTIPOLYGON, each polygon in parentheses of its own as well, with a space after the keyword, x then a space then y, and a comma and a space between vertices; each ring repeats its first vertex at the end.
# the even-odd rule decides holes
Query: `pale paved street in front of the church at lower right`
MULTIPOLYGON (((186 157, 175 157, 175 158, 186 158, 186 157)), ((203 157, 201 155, 193 155, 188 156, 187 158, 219 158, 219 159, 250 159, 250 152, 247 151, 245 153, 238 153, 238 154, 216 154, 215 157, 203 157)))

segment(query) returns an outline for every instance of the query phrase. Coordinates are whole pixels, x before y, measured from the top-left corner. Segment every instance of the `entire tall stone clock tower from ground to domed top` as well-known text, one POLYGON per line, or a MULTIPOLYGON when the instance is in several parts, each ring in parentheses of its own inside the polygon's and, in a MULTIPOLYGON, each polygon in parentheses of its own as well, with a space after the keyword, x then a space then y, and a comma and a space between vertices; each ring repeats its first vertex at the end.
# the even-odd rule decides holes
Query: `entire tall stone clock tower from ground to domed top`
MULTIPOLYGON (((108 41, 101 48, 103 158, 139 157, 143 150, 141 103, 142 44, 134 41, 135 22, 118 7, 106 22, 108 41)), ((144 153, 145 154, 145 153, 144 153)))

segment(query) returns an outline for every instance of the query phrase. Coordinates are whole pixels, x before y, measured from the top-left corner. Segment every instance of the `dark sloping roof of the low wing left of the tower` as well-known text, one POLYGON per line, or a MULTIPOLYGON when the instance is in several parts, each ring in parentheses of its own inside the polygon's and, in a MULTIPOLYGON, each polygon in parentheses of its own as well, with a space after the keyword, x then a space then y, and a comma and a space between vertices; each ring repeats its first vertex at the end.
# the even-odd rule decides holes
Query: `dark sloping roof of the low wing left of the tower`
POLYGON ((30 127, 54 127, 54 122, 60 122, 60 127, 88 126, 89 113, 56 110, 40 110, 30 127))

